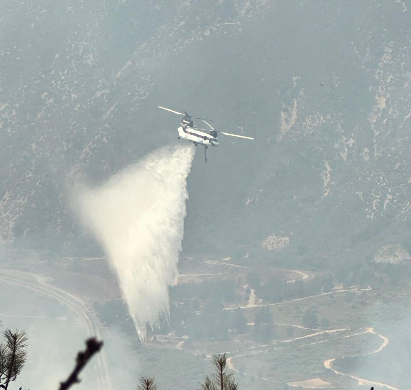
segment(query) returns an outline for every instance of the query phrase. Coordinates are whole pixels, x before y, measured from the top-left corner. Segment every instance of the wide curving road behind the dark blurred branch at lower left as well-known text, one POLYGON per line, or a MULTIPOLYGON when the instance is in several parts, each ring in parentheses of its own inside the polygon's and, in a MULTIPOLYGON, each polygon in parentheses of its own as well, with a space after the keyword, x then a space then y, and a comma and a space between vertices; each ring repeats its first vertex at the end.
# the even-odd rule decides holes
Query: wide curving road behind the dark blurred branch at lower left
MULTIPOLYGON (((101 340, 101 335, 99 332, 98 327, 96 326, 97 318, 93 313, 91 313, 84 305, 81 299, 77 296, 74 296, 64 290, 60 290, 56 287, 52 287, 40 281, 38 275, 29 274, 34 280, 27 280, 22 277, 17 277, 14 275, 10 275, 5 270, 0 271, 0 280, 6 283, 13 283, 14 285, 18 285, 21 287, 28 288, 33 291, 38 291, 44 293, 54 299, 57 299, 60 303, 66 305, 71 310, 76 312, 80 317, 83 318, 83 321, 86 325, 87 329, 87 336, 88 337, 96 337, 97 339, 101 340)), ((110 380, 107 374, 107 362, 106 356, 104 353, 104 349, 101 350, 100 353, 97 354, 98 359, 98 380, 99 380, 99 388, 101 390, 111 390, 110 380)), ((63 378, 62 378, 63 379, 63 378)))

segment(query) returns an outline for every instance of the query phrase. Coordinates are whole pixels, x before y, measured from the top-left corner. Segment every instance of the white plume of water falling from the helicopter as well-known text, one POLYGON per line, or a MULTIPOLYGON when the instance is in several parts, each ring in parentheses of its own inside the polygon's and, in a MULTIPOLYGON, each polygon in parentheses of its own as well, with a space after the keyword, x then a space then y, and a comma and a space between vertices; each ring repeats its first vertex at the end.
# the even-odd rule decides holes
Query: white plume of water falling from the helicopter
POLYGON ((193 145, 163 147, 106 183, 77 191, 82 221, 117 272, 141 339, 147 323, 154 325, 160 313, 169 312, 194 152, 193 145))

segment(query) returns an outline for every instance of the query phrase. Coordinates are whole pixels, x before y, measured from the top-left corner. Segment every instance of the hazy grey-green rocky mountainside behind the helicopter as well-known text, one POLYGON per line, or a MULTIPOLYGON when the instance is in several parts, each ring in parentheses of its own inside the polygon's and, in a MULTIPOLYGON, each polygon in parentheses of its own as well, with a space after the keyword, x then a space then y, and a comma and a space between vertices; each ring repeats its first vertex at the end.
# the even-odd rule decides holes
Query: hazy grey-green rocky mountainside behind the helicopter
POLYGON ((409 12, 398 0, 2 3, 2 239, 76 243, 70 183, 175 141, 180 118, 163 105, 256 138, 221 135, 207 165, 198 148, 187 251, 242 256, 271 236, 278 256, 321 265, 411 249, 409 12))

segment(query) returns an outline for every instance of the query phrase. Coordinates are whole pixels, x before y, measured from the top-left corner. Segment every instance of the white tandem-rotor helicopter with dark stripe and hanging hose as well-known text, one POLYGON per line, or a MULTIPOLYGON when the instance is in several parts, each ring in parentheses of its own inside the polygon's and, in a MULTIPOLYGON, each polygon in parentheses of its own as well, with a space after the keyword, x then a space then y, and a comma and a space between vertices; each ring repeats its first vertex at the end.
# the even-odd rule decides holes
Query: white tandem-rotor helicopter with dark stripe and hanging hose
POLYGON ((216 120, 199 118, 197 116, 191 116, 191 115, 187 114, 185 111, 178 112, 178 111, 174 111, 174 110, 171 110, 171 109, 167 109, 165 107, 161 107, 160 105, 157 106, 157 107, 159 109, 170 111, 174 114, 184 115, 181 118, 180 126, 177 129, 178 139, 180 139, 180 138, 188 139, 189 141, 192 141, 195 146, 197 146, 198 144, 203 145, 204 146, 204 157, 206 158, 206 163, 207 163, 207 149, 208 149, 208 147, 209 146, 218 146, 220 144, 220 141, 217 138, 218 133, 224 134, 224 135, 230 135, 232 137, 245 138, 245 139, 254 139, 254 138, 251 138, 251 137, 246 137, 244 135, 225 133, 223 131, 215 130, 210 125, 209 122, 216 122, 216 120), (206 123, 206 125, 211 130, 200 129, 198 127, 195 127, 193 125, 192 118, 202 120, 204 123, 206 123))

